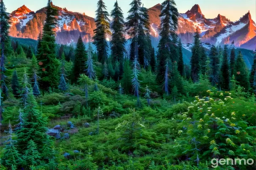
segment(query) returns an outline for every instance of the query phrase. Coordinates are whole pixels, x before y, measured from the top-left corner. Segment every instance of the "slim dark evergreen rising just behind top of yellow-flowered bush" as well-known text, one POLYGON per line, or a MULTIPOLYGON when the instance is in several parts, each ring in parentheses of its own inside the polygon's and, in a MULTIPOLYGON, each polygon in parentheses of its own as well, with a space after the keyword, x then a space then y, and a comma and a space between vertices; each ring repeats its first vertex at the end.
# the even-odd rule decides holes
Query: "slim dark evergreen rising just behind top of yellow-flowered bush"
POLYGON ((220 86, 222 89, 229 89, 229 63, 228 63, 228 45, 224 45, 224 54, 223 54, 223 61, 222 61, 222 66, 220 69, 220 86))

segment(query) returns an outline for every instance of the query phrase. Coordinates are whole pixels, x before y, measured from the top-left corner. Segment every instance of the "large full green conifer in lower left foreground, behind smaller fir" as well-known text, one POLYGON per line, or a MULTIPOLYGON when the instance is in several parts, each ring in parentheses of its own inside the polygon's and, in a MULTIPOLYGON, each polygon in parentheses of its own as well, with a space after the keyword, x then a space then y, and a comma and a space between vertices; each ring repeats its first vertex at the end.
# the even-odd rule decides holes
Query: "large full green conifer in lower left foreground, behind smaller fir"
MULTIPOLYGON (((48 128, 46 128, 46 118, 43 117, 42 112, 38 109, 36 100, 32 92, 28 93, 27 105, 23 109, 23 123, 22 128, 17 130, 17 148, 21 154, 25 154, 29 149, 30 140, 37 145, 38 152, 44 153, 45 148, 49 147, 49 136, 46 134, 48 128)), ((52 152, 47 153, 52 155, 52 152)))

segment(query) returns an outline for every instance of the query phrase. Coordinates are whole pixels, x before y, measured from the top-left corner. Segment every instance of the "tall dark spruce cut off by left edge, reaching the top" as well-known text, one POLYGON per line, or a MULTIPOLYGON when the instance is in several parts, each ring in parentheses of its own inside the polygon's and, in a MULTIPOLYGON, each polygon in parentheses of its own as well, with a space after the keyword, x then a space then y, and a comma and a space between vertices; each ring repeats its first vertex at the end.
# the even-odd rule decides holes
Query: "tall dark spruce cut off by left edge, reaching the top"
POLYGON ((5 84, 5 59, 7 55, 7 45, 9 44, 9 29, 10 29, 10 16, 6 12, 4 1, 0 1, 0 46, 1 46, 1 58, 0 58, 0 83, 2 92, 8 96, 8 88, 5 84))

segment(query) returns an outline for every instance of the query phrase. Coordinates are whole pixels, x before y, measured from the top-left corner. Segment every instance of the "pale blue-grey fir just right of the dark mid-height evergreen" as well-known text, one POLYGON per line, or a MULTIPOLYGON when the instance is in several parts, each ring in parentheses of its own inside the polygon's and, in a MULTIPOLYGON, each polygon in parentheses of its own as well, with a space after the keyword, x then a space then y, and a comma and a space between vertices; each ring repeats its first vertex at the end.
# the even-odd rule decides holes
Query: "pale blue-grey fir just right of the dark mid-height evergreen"
POLYGON ((92 47, 91 47, 91 44, 89 43, 89 46, 88 46, 88 58, 87 58, 87 61, 85 62, 85 65, 86 65, 86 68, 84 71, 86 72, 87 76, 90 78, 90 79, 94 79, 96 77, 96 73, 95 73, 95 70, 94 70, 94 61, 92 60, 92 47))

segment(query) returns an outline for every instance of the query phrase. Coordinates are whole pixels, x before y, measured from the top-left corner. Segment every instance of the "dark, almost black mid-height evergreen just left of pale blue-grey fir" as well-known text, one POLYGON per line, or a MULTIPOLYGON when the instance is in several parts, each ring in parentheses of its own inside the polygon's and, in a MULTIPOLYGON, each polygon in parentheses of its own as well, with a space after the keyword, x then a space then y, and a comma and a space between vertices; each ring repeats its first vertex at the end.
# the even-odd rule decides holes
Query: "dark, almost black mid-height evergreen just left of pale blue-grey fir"
MULTIPOLYGON (((88 49, 89 55, 89 49, 88 49)), ((89 58, 89 56, 88 56, 89 58)), ((73 81, 76 82, 80 76, 84 72, 84 63, 86 61, 86 52, 85 52, 85 45, 82 41, 81 35, 79 36, 78 42, 76 44, 75 50, 75 60, 74 60, 74 67, 73 67, 73 81)))

